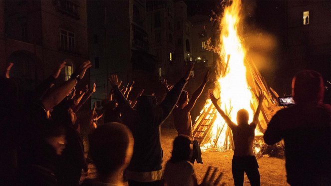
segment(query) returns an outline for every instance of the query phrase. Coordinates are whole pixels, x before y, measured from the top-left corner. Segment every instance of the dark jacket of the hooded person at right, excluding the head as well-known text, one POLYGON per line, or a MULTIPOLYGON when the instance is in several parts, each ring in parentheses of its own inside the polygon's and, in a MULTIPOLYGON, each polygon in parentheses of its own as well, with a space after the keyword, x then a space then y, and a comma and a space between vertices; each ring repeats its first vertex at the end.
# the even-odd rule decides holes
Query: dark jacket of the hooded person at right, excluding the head
POLYGON ((331 184, 330 105, 298 104, 279 110, 269 122, 264 140, 272 145, 282 138, 290 184, 331 184))

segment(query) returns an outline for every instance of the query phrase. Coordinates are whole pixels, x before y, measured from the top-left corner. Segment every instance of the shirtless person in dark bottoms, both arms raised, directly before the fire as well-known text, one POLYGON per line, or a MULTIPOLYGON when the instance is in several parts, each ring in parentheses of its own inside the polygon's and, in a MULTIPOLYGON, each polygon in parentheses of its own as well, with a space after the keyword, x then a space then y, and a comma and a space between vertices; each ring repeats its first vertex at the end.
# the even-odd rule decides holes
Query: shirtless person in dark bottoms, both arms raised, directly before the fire
POLYGON ((235 181, 235 185, 243 185, 244 172, 246 172, 251 185, 260 185, 260 173, 258 170, 258 161, 253 153, 253 140, 254 130, 256 128, 259 113, 262 107, 262 101, 264 99, 263 93, 258 97, 259 105, 253 117, 251 124, 248 124, 248 111, 240 109, 237 112, 237 123, 231 121, 231 119, 224 113, 224 111, 217 104, 217 98, 211 93, 210 99, 215 105, 217 111, 224 118, 228 126, 233 133, 233 140, 235 143, 235 150, 232 159, 232 176, 235 181))

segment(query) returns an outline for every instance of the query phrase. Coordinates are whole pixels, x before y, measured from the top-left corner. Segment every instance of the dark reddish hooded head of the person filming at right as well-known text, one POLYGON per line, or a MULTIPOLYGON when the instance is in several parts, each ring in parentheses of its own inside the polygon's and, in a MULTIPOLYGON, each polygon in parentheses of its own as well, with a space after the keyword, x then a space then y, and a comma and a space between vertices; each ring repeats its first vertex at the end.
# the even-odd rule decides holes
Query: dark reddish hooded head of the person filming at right
POLYGON ((292 96, 296 103, 322 102, 324 83, 321 73, 304 70, 292 79, 292 96))

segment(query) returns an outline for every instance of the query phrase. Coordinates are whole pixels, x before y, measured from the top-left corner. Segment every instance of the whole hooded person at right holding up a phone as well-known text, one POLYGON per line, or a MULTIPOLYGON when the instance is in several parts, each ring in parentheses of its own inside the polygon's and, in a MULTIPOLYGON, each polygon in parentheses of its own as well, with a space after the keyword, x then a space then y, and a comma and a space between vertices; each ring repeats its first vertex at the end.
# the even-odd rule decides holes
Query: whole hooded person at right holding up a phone
POLYGON ((279 110, 264 140, 284 139, 287 181, 291 185, 331 185, 331 106, 324 104, 322 75, 300 71, 292 81, 296 105, 279 110))

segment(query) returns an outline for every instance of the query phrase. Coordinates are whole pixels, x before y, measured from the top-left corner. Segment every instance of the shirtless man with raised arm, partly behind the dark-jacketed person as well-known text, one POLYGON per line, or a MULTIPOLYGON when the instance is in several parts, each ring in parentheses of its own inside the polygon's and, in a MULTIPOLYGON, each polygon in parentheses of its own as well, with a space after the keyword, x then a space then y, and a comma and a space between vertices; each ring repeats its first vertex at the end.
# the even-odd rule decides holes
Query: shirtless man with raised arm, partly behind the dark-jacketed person
MULTIPOLYGON (((190 101, 187 91, 183 90, 182 94, 180 95, 177 102, 178 107, 174 108, 173 110, 174 123, 178 135, 188 135, 191 138, 191 140, 194 140, 192 134, 192 119, 191 119, 190 111, 193 108, 199 96, 201 95, 208 80, 209 80, 209 71, 206 72, 202 84, 198 87, 197 90, 195 90, 190 101)), ((191 162, 194 163, 195 159, 197 159, 198 163, 202 163, 200 145, 197 140, 194 140, 193 144, 194 144, 194 152, 191 162)))

